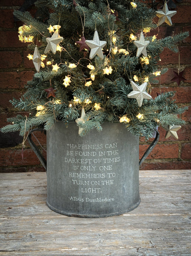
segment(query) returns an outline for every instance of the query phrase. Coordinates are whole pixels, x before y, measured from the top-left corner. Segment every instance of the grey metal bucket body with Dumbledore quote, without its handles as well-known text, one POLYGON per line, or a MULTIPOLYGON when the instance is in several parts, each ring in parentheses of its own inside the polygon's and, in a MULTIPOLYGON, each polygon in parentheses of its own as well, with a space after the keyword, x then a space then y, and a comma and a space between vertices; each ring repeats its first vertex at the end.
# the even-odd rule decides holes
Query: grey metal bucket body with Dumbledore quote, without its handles
POLYGON ((47 131, 47 205, 69 216, 106 217, 133 210, 139 197, 139 137, 103 123, 85 137, 76 123, 47 131))

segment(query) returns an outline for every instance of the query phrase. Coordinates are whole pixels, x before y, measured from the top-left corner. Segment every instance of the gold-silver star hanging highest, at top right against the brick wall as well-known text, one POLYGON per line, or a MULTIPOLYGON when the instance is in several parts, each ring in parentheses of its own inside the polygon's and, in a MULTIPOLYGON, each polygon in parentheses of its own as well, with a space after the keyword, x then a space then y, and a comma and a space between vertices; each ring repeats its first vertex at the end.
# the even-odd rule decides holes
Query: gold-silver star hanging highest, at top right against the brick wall
POLYGON ((159 17, 157 25, 160 26, 162 23, 166 22, 169 26, 172 26, 171 17, 176 14, 176 11, 169 11, 167 3, 164 3, 162 10, 157 11, 157 16, 159 17))

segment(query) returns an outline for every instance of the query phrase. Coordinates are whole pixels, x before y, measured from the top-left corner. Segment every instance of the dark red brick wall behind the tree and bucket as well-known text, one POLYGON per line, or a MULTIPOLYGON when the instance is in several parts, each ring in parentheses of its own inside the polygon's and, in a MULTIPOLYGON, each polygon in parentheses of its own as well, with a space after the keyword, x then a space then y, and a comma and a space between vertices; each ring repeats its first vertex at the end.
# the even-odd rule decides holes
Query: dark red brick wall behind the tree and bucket
MULTIPOLYGON (((0 50, 0 127, 5 126, 6 118, 20 113, 9 103, 13 97, 19 98, 24 91, 24 84, 31 80, 34 74, 32 61, 26 57, 28 55, 27 44, 18 40, 18 27, 20 22, 14 21, 13 9, 18 9, 24 3, 24 0, 0 0, 0 30, 1 30, 1 50, 0 50)), ((172 17, 173 26, 169 27, 163 24, 159 27, 157 39, 165 36, 172 36, 173 31, 189 31, 191 28, 191 1, 184 0, 182 3, 176 3, 177 14, 172 17)), ((159 5, 158 5, 159 6, 159 5)), ((34 6, 28 9, 31 13, 35 12, 34 6)), ((157 21, 157 19, 156 19, 157 21)), ((152 31, 151 35, 157 34, 152 31)), ((189 106, 190 102, 190 82, 191 82, 191 51, 189 43, 191 37, 184 40, 179 46, 180 50, 180 71, 184 70, 186 81, 182 81, 179 86, 176 82, 171 82, 174 77, 173 70, 177 71, 178 54, 174 54, 165 49, 161 54, 160 65, 168 68, 168 72, 161 77, 161 91, 176 91, 176 102, 179 106, 189 106)), ((155 97, 159 92, 158 85, 153 86, 152 96, 155 97)), ((149 169, 191 169, 191 115, 190 109, 181 116, 185 121, 178 132, 179 139, 172 136, 165 139, 165 131, 159 127, 160 139, 156 147, 150 153, 148 158, 141 165, 142 170, 149 169)), ((46 135, 35 134, 40 143, 46 148, 46 135)), ((26 144, 24 148, 24 159, 22 159, 22 138, 18 133, 0 134, 0 172, 26 172, 43 171, 38 158, 26 144)), ((147 143, 144 138, 140 139, 140 157, 148 148, 150 139, 147 143)), ((42 153, 46 155, 43 149, 42 153)))

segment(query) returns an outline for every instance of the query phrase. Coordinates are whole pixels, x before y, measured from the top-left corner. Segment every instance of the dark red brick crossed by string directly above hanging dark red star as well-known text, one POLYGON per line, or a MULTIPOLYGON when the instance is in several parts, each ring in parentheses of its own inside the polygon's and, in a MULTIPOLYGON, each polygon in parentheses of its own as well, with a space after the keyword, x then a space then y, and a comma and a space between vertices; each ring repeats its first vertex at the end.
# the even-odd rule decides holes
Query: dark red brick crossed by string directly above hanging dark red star
MULTIPOLYGON (((180 64, 190 64, 191 50, 189 46, 179 46, 180 64)), ((178 53, 173 53, 171 50, 165 48, 160 54, 160 65, 178 64, 178 53)))

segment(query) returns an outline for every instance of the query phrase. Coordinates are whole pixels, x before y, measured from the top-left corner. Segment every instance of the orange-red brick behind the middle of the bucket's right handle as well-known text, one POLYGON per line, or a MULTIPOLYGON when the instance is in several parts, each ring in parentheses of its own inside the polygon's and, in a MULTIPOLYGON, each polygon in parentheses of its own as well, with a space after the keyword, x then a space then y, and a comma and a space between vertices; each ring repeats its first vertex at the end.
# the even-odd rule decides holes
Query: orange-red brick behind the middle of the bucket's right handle
MULTIPOLYGON (((148 145, 139 145, 139 158, 143 156, 147 148, 148 145)), ((178 158, 178 144, 157 144, 147 158, 178 158)))

